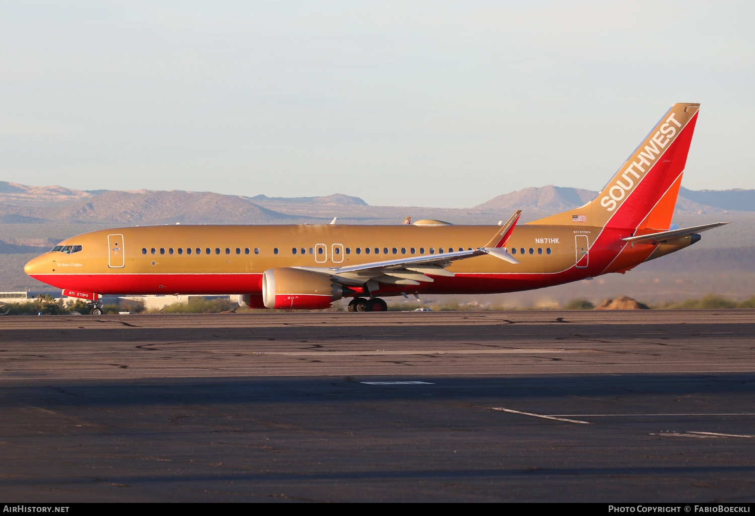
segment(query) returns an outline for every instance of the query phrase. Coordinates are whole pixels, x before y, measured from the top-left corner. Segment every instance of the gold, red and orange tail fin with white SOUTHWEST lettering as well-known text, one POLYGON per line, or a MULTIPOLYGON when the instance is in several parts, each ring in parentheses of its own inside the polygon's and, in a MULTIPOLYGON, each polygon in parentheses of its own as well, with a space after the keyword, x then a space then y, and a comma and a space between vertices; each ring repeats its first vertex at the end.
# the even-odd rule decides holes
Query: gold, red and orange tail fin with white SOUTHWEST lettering
POLYGON ((700 104, 674 104, 598 196, 531 224, 668 229, 700 104))

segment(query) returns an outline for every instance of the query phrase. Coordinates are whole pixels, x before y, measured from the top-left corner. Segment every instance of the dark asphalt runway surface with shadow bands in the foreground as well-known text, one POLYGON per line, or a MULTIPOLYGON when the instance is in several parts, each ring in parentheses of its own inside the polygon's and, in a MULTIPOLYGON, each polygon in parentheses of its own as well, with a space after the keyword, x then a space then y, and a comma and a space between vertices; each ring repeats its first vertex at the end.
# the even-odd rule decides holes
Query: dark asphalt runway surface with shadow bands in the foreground
POLYGON ((0 318, 0 500, 755 501, 753 317, 0 318))

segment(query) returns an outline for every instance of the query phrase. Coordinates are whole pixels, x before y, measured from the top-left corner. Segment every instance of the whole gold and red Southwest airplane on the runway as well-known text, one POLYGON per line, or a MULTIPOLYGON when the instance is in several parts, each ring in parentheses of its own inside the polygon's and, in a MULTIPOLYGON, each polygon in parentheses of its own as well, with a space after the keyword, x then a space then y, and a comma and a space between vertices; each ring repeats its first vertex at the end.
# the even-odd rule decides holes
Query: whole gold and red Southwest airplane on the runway
POLYGON ((671 229, 699 104, 675 104, 593 200, 516 225, 137 226, 68 238, 26 274, 90 299, 239 294, 252 308, 381 312, 380 296, 503 293, 626 272, 694 244, 713 223, 671 229))

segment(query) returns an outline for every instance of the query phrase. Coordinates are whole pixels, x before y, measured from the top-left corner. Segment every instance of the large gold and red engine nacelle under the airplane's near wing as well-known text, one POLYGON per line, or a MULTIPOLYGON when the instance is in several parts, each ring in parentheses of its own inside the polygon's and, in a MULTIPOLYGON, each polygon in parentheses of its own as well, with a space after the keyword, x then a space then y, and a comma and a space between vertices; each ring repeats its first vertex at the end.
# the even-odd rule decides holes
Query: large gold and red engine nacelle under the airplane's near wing
POLYGON ((271 309, 325 309, 344 296, 344 287, 318 272, 282 267, 262 275, 262 302, 271 309))

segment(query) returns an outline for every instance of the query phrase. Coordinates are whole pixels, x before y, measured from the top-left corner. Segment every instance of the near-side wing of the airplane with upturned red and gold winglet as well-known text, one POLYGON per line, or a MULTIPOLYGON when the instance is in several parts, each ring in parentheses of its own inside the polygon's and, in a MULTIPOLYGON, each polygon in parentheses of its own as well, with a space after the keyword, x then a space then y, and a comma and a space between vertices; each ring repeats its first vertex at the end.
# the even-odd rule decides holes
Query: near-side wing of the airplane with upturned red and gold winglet
POLYGON ((367 281, 377 281, 385 284, 418 285, 420 282, 432 282, 428 275, 453 276, 454 273, 445 270, 457 260, 466 260, 474 256, 490 254, 509 263, 519 263, 504 249, 504 244, 513 233, 514 226, 519 220, 521 210, 513 214, 506 224, 495 232, 495 236, 483 247, 470 250, 458 250, 453 253, 439 253, 424 256, 405 256, 396 260, 360 263, 355 266, 344 267, 294 267, 313 272, 322 272, 337 278, 346 285, 361 285, 367 281))

